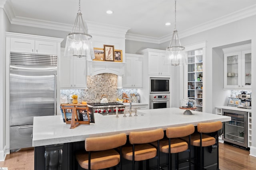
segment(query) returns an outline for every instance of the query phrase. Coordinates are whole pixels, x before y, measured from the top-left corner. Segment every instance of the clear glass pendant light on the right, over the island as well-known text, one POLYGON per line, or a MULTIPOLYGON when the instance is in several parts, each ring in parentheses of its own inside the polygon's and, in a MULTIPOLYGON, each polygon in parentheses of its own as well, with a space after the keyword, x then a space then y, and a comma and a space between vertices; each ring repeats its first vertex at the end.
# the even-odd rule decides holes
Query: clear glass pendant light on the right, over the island
POLYGON ((172 34, 172 40, 170 42, 170 45, 166 48, 166 57, 164 63, 172 64, 172 66, 180 66, 188 63, 185 47, 180 45, 180 39, 178 37, 178 31, 176 29, 176 0, 174 31, 172 34))

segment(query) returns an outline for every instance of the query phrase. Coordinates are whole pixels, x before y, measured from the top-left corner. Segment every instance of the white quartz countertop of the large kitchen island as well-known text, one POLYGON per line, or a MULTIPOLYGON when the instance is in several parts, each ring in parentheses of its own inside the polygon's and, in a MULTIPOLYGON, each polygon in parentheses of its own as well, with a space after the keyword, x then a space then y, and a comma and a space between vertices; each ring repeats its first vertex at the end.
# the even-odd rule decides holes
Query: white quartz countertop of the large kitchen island
POLYGON ((182 126, 199 122, 230 121, 231 117, 192 111, 193 115, 184 115, 184 109, 163 108, 139 110, 138 116, 123 117, 116 115, 94 114, 95 123, 79 125, 70 129, 70 124, 63 122, 62 115, 34 117, 33 147, 84 141, 87 137, 100 137, 144 131, 167 127, 182 126))

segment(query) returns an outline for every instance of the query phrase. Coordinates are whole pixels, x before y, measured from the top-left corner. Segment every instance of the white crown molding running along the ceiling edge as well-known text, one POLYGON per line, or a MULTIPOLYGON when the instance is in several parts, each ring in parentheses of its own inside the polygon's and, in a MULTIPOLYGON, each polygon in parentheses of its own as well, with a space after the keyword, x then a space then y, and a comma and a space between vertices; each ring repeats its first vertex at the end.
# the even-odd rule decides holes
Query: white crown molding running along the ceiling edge
MULTIPOLYGON (((46 21, 46 20, 36 20, 32 18, 24 18, 24 17, 16 16, 13 10, 11 1, 4 0, 4 2, 0 3, 0 8, 1 6, 4 6, 4 11, 8 19, 10 20, 11 24, 40 27, 45 29, 55 29, 55 30, 68 31, 68 32, 70 32, 73 27, 73 25, 71 24, 58 23, 58 22, 52 22, 52 21, 46 21)), ((196 33, 200 33, 202 31, 206 31, 215 27, 219 27, 221 25, 225 25, 227 23, 231 23, 237 20, 248 18, 250 16, 254 16, 254 15, 256 15, 256 5, 243 8, 241 10, 238 10, 236 12, 233 12, 231 14, 222 16, 220 18, 217 18, 211 21, 207 21, 205 23, 197 25, 196 27, 192 27, 190 29, 180 31, 179 37, 180 38, 188 37, 190 35, 194 35, 196 33)), ((92 35, 119 37, 119 38, 124 38, 132 41, 142 41, 142 42, 156 43, 156 44, 161 44, 161 43, 170 41, 172 37, 172 34, 168 34, 160 38, 144 36, 144 35, 136 35, 132 33, 126 33, 128 29, 130 29, 128 27, 113 26, 113 25, 107 25, 102 23, 96 23, 92 21, 86 21, 86 23, 90 28, 89 33, 92 35)))

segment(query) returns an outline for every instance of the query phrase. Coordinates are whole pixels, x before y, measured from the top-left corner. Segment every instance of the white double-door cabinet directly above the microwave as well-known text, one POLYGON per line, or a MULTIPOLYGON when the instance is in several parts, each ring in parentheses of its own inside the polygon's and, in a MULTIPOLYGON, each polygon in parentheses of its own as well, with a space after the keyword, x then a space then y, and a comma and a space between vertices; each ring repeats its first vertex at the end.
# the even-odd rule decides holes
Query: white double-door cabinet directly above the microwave
POLYGON ((170 65, 164 64, 165 51, 148 53, 148 75, 170 76, 170 65))

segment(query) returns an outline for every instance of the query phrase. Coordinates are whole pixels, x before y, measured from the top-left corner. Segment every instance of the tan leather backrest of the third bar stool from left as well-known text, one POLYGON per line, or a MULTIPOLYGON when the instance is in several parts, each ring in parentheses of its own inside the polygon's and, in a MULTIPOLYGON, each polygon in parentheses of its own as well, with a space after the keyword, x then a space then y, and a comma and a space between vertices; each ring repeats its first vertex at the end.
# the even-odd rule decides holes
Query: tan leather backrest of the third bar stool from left
POLYGON ((166 129, 166 137, 168 138, 176 138, 176 137, 186 137, 194 133, 195 127, 194 125, 186 125, 179 127, 168 127, 166 129))

